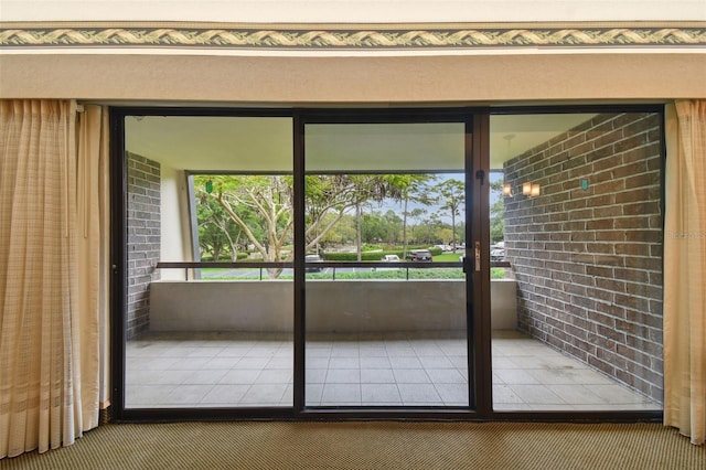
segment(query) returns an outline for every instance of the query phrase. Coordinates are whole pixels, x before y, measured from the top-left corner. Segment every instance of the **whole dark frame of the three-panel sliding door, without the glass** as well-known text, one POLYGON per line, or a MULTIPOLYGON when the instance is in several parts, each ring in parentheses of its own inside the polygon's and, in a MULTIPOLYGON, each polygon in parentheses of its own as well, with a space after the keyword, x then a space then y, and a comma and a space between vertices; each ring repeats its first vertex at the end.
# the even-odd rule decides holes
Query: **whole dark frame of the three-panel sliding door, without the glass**
MULTIPOLYGON (((661 420, 655 412, 494 412, 492 404, 491 318, 490 318, 490 246, 489 231, 489 169, 490 169, 490 116, 502 114, 549 113, 610 113, 650 111, 663 113, 661 105, 590 105, 590 106, 542 106, 542 107, 415 107, 415 108, 191 108, 191 107, 111 107, 110 108, 110 341, 111 341, 111 419, 115 421, 157 420, 236 420, 236 419, 461 419, 461 420, 661 420), (303 214, 303 122, 317 119, 342 119, 349 122, 365 119, 365 122, 384 122, 389 119, 419 119, 430 117, 448 119, 463 116, 466 132, 466 191, 467 191, 467 269, 472 270, 467 282, 469 383, 472 388, 469 409, 389 409, 389 410, 315 410, 304 406, 302 391, 295 391, 291 408, 125 408, 125 327, 127 293, 127 171, 125 165, 125 117, 127 116, 260 116, 291 117, 293 132, 295 211, 303 214), (347 117, 345 117, 347 116, 347 117), (299 189, 297 189, 299 188, 299 189), (469 211, 469 201, 470 211, 469 211), (469 214, 471 214, 469 216, 469 214), (471 260, 473 247, 469 241, 480 242, 481 271, 474 271, 471 260), (475 286, 475 288, 474 288, 475 286), (484 313, 484 314, 483 314, 484 313), (473 409, 474 408, 474 409, 473 409)), ((434 119, 434 118, 432 118, 434 119)), ((395 120, 397 121, 397 120, 395 120)), ((295 236, 303 239, 303 224, 295 228, 295 236)), ((303 289, 303 244, 297 243, 295 302, 295 381, 303 387, 304 319, 301 306, 306 300, 303 289), (299 339, 299 340, 298 340, 299 339)))

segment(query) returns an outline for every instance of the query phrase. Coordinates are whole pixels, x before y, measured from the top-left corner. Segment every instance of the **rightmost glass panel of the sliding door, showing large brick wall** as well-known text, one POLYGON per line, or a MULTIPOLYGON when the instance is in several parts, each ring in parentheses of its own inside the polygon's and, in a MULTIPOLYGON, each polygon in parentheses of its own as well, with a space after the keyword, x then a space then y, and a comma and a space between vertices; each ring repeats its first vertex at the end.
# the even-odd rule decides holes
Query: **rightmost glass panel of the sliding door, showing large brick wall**
POLYGON ((493 408, 662 408, 657 113, 490 120, 493 408))

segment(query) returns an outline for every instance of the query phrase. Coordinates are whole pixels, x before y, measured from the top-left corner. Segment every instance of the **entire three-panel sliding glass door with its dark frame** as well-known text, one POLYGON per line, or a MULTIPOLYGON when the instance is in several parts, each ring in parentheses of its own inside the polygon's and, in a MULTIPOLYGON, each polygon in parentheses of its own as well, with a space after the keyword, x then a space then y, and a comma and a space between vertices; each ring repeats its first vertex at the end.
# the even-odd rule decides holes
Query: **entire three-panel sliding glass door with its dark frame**
POLYGON ((116 419, 661 409, 660 109, 113 119, 116 419))

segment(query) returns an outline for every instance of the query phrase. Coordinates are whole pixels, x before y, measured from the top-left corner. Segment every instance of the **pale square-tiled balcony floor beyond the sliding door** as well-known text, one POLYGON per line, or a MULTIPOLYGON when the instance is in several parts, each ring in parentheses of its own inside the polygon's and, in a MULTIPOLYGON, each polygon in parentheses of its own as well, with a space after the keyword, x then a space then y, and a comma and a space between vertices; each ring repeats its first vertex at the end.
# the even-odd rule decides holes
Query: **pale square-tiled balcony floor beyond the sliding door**
MULTIPOLYGON (((493 349, 496 410, 661 409, 516 332, 493 349)), ((308 406, 467 406, 466 341, 403 335, 307 343, 308 406)), ((154 338, 127 344, 127 408, 292 406, 292 342, 154 338)))

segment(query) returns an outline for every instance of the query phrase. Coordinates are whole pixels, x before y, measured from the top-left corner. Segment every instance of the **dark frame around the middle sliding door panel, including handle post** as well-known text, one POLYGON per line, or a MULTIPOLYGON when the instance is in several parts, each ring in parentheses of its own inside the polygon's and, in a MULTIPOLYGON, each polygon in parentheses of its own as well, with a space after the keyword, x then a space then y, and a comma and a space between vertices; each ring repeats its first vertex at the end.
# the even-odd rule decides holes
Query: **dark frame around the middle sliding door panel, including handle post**
MULTIPOLYGON (((314 109, 300 110, 295 118, 295 416, 311 419, 345 419, 345 418, 419 418, 419 419, 471 419, 479 417, 477 409, 481 399, 491 399, 490 382, 482 392, 478 392, 479 378, 491 377, 490 354, 479 351, 477 348, 485 342, 490 352, 490 338, 482 340, 483 329, 488 328, 485 335, 490 334, 490 319, 483 321, 480 309, 489 306, 490 291, 482 292, 483 284, 490 288, 483 279, 489 277, 490 257, 482 256, 481 270, 470 268, 470 250, 468 241, 490 243, 489 229, 483 229, 482 217, 488 218, 489 209, 482 207, 483 201, 488 201, 486 178, 475 178, 477 172, 488 174, 489 154, 481 154, 488 150, 488 138, 480 137, 483 129, 488 128, 489 115, 468 108, 427 108, 427 109, 314 109), (306 287, 304 287, 304 174, 306 156, 304 128, 308 124, 416 124, 416 122, 462 122, 464 125, 464 182, 466 182, 466 239, 467 239, 467 344, 468 344, 468 389, 469 406, 466 408, 443 407, 396 407, 396 408, 307 408, 304 389, 304 344, 306 344, 306 287), (483 124, 484 122, 484 124, 483 124), (474 138, 475 137, 475 138, 474 138), (485 167, 482 162, 485 161, 485 167), (485 193, 485 195, 483 195, 485 193), (483 215, 484 214, 484 215, 483 215), (483 242, 483 233, 485 241, 483 242), (483 273, 485 271, 485 275, 483 273)), ((480 173, 479 173, 480 175, 480 173)), ((488 222, 486 222, 488 224, 488 222)), ((490 245, 488 245, 490 246, 490 245)), ((489 249, 481 249, 481 253, 489 249)), ((489 317, 486 314, 485 317, 489 317)), ((492 409, 492 403, 483 404, 483 409, 492 409)))

